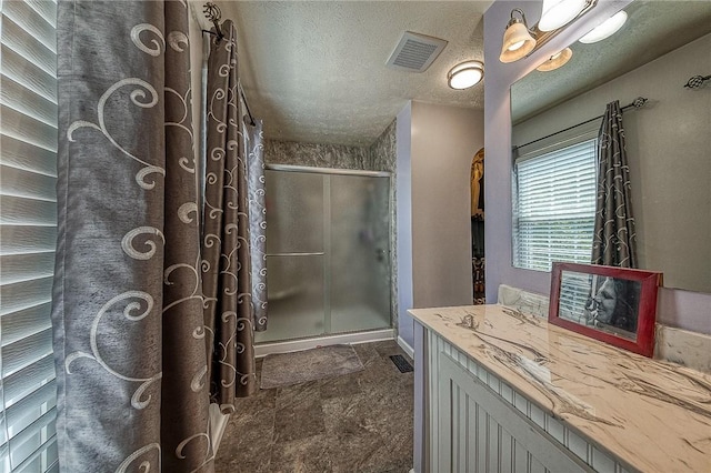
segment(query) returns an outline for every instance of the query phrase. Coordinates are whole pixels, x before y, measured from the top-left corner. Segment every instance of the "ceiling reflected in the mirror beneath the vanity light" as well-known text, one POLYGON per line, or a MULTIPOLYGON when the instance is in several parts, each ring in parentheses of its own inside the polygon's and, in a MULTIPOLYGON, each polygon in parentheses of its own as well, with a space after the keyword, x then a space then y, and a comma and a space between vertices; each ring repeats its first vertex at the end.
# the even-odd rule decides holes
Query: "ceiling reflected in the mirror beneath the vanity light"
POLYGON ((533 71, 514 83, 512 120, 529 119, 711 32, 709 0, 635 0, 625 11, 628 21, 614 36, 592 44, 575 42, 565 66, 533 71))

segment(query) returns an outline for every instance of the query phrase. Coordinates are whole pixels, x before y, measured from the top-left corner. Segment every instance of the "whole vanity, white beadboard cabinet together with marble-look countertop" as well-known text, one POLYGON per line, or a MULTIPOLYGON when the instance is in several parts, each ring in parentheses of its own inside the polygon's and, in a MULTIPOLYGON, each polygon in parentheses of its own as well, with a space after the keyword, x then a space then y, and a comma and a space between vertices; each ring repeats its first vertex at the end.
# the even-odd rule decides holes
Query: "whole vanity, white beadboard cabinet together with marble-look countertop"
POLYGON ((410 313, 417 473, 711 472, 711 376, 499 305, 410 313))

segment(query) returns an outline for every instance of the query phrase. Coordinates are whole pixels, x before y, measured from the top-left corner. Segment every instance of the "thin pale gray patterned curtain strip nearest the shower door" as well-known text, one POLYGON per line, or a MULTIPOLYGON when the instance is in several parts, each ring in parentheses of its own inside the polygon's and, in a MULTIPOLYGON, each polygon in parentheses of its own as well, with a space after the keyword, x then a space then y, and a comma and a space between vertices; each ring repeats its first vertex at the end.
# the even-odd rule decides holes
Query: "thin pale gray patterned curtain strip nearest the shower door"
POLYGON ((254 331, 267 330, 267 202, 262 121, 243 117, 254 331))

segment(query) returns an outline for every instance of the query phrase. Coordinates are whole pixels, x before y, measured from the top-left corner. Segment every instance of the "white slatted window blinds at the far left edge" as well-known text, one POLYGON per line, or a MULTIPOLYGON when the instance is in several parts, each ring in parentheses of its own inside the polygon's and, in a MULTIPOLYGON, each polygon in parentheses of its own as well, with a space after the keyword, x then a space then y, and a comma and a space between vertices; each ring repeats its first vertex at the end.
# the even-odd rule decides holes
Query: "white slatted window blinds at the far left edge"
POLYGON ((56 1, 0 0, 0 471, 58 471, 56 1))

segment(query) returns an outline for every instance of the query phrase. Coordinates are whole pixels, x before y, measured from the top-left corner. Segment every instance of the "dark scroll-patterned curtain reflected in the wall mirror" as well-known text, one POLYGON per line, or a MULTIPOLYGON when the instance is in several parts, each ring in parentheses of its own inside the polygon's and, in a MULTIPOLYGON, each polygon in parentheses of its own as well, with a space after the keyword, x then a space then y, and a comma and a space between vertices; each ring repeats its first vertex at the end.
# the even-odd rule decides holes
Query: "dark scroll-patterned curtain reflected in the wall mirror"
POLYGON ((598 195, 592 263, 637 268, 637 232, 620 102, 608 103, 598 137, 598 195))

